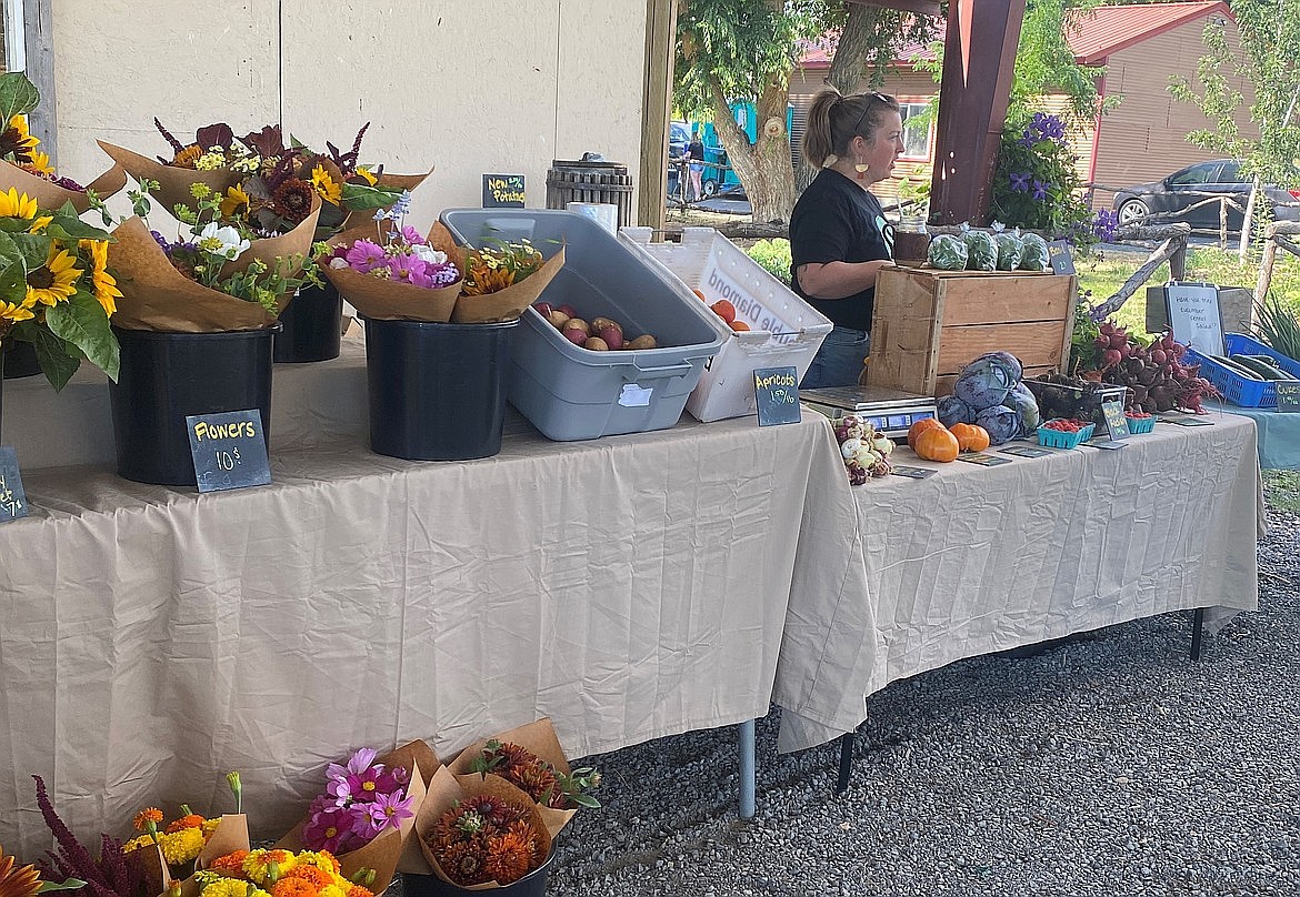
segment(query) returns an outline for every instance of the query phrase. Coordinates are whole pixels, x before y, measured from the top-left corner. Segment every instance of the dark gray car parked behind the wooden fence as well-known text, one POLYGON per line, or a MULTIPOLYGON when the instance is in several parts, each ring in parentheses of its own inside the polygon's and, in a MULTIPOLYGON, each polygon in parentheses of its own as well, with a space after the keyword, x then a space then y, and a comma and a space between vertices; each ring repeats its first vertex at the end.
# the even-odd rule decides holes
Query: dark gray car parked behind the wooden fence
MULTIPOLYGON (((1300 186, 1300 175, 1292 183, 1300 186)), ((1242 175, 1240 162, 1218 158, 1188 165, 1149 184, 1126 187, 1115 193, 1113 206, 1121 225, 1139 223, 1144 217, 1153 215, 1143 223, 1186 221, 1196 228, 1218 230, 1219 203, 1190 208, 1209 199, 1199 193, 1227 193, 1244 209, 1251 182, 1242 175)), ((1275 219, 1300 219, 1300 205, 1295 205, 1300 201, 1300 188, 1265 186, 1264 196, 1273 204, 1275 219)), ((1227 226, 1228 230, 1242 230, 1242 212, 1231 205, 1227 206, 1227 226)))

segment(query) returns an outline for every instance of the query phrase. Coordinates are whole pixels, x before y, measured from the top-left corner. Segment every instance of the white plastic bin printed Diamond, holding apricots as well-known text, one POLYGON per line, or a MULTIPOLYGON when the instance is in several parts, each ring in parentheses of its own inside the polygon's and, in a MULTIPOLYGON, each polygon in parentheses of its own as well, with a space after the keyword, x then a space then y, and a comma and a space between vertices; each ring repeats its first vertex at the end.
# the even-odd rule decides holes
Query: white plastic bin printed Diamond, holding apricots
POLYGON ((703 293, 705 305, 731 301, 737 321, 750 327, 737 334, 714 315, 723 345, 686 400, 688 412, 705 422, 755 414, 755 367, 793 366, 803 379, 831 332, 829 318, 711 227, 686 227, 681 243, 651 243, 651 234, 624 227, 619 236, 663 276, 703 293))

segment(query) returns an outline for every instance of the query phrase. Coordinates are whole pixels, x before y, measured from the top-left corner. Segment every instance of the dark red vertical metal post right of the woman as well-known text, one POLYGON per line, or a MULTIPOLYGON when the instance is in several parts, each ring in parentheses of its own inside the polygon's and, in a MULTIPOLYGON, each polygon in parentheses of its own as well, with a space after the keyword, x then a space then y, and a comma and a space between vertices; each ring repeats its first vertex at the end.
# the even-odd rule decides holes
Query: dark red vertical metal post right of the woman
POLYGON ((1024 0, 952 0, 939 86, 930 223, 984 223, 1024 0))

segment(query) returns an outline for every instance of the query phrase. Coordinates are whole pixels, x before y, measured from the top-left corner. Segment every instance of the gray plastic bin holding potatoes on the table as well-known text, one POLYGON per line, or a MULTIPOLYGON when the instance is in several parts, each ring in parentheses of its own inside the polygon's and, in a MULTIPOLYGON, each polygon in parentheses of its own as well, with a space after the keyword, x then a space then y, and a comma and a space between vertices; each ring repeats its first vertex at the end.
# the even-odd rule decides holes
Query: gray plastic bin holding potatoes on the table
POLYGON ((441 215, 463 244, 529 239, 545 256, 564 245, 564 267, 542 300, 572 305, 586 321, 614 318, 628 338, 653 334, 663 348, 592 352, 569 343, 526 309, 511 344, 510 402, 549 439, 598 439, 672 427, 705 365, 722 347, 686 289, 654 273, 598 223, 547 209, 447 209, 441 215))

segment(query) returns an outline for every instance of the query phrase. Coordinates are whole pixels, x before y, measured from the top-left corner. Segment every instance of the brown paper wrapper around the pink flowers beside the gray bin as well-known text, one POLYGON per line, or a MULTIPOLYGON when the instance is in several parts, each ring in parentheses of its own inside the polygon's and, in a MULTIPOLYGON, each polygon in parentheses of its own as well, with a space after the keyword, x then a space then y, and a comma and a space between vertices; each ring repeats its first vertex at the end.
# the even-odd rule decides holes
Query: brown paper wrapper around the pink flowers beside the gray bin
MULTIPOLYGON (((437 228, 429 232, 429 243, 464 273, 464 258, 459 247, 443 245, 437 239, 437 228), (452 252, 454 251, 454 252, 452 252)), ((384 239, 376 232, 373 222, 343 231, 329 240, 330 245, 351 245, 358 239, 374 240, 382 245, 384 239)), ((328 261, 317 258, 321 273, 338 288, 339 295, 361 313, 363 317, 377 321, 422 321, 426 323, 447 323, 460 296, 462 280, 446 287, 416 287, 396 280, 384 280, 369 274, 354 271, 351 267, 330 267, 328 261)))

